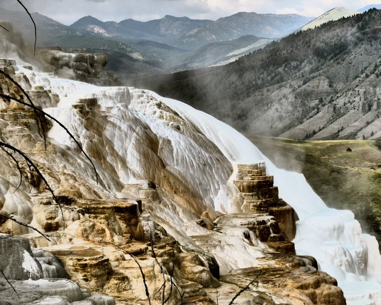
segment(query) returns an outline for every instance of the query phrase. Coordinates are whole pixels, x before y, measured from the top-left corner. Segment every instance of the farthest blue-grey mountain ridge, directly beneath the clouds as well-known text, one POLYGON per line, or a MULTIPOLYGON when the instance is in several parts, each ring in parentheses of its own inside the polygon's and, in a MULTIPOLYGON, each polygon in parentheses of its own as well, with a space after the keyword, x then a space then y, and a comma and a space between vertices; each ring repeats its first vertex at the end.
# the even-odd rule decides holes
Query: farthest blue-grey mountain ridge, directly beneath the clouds
POLYGON ((140 22, 126 19, 119 23, 102 22, 86 16, 70 25, 103 36, 124 39, 149 39, 185 49, 197 49, 212 42, 229 41, 245 35, 280 38, 311 21, 300 15, 276 15, 240 12, 212 20, 194 20, 188 17, 165 16, 161 19, 140 22))

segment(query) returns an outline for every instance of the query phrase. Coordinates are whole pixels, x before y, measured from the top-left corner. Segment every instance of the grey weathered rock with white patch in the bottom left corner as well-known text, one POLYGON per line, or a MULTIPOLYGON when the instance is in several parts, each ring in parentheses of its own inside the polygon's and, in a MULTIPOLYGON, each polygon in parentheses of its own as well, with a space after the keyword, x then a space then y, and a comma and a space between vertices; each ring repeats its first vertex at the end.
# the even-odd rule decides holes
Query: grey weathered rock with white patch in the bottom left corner
POLYGON ((31 248, 27 238, 0 234, 0 265, 2 304, 115 304, 113 298, 92 295, 69 281, 62 262, 49 252, 31 248))

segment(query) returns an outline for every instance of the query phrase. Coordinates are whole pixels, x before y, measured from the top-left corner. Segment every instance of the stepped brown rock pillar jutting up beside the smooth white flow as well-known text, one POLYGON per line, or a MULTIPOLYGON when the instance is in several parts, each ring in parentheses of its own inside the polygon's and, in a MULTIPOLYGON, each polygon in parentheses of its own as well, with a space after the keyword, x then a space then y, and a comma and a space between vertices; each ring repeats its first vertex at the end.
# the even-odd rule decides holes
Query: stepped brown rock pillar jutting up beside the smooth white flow
MULTIPOLYGON (((249 228, 258 239, 277 251, 295 254, 295 211, 278 196, 274 177, 266 175, 265 163, 237 164, 234 184, 240 190, 233 200, 241 204, 244 216, 227 215, 223 218, 239 218, 239 225, 249 228)), ((222 219, 219 222, 222 222, 222 219)))

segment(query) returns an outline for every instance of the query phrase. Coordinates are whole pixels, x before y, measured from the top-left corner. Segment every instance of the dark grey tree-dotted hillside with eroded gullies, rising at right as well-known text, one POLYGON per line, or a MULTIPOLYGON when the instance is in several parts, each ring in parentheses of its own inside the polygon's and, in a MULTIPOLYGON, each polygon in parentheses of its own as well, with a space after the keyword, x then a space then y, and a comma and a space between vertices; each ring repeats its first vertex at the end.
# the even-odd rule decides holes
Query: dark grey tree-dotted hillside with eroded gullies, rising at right
POLYGON ((224 67, 135 82, 240 131, 292 139, 381 136, 381 12, 292 34, 224 67))

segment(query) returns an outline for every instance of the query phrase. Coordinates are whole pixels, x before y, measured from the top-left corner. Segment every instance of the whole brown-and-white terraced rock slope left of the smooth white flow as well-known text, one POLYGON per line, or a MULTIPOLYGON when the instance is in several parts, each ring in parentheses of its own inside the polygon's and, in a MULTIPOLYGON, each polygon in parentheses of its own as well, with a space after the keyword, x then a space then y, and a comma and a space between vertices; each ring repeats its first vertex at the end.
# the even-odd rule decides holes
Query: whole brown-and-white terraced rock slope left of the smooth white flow
MULTIPOLYGON (((0 229, 54 254, 80 287, 119 304, 227 304, 251 282, 256 285, 235 303, 345 303, 336 280, 318 271, 315 259, 295 255, 295 212, 279 199, 265 165, 232 164, 229 154, 240 148, 221 140, 232 145, 228 154, 217 146, 208 134, 218 126, 212 118, 199 115, 201 124, 186 108, 144 90, 51 78, 10 60, 1 69, 68 127, 97 169, 98 183, 59 126, 45 121, 45 148, 34 112, 1 100, 2 141, 33 160, 55 200, 14 155, 22 174, 17 188, 18 168, 0 151, 1 213, 30 223, 49 240, 11 220, 0 229)), ((4 78, 1 89, 21 95, 4 78)), ((24 291, 22 283, 14 286, 24 291)), ((81 297, 89 298, 86 293, 81 297)), ((13 290, 8 286, 0 295, 12 297, 13 290)))

